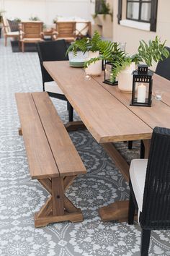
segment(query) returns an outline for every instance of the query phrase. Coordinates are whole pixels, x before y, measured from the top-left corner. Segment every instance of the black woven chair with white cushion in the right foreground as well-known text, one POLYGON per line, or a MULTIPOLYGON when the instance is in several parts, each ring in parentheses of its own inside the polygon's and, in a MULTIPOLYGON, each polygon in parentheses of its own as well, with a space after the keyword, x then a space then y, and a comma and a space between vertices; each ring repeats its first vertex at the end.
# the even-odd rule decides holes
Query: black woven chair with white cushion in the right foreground
POLYGON ((148 255, 151 230, 170 229, 170 129, 153 129, 148 160, 130 164, 128 223, 133 224, 135 207, 142 228, 141 255, 148 255))

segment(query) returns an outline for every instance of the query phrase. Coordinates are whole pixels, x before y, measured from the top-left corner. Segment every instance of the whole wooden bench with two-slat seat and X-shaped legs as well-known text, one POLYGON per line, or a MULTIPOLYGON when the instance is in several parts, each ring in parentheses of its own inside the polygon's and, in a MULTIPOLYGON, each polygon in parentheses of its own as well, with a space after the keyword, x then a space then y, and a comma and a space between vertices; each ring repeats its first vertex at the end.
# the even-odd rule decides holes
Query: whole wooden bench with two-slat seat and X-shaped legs
POLYGON ((86 174, 71 138, 48 93, 16 93, 17 108, 32 179, 50 193, 35 213, 35 227, 59 221, 83 221, 81 210, 64 192, 78 174, 86 174))

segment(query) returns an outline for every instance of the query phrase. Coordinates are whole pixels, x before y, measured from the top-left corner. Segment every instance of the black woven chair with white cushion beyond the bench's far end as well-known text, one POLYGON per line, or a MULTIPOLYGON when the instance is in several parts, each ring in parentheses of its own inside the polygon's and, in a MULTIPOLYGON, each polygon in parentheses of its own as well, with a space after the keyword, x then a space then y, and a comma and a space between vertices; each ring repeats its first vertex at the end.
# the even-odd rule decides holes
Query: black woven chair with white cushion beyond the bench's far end
MULTIPOLYGON (((63 101, 67 101, 66 96, 62 90, 58 87, 57 83, 48 74, 46 69, 43 67, 43 61, 66 61, 67 46, 65 40, 55 40, 49 42, 37 43, 37 53, 40 59, 40 67, 42 72, 42 89, 48 92, 48 95, 53 98, 58 98, 63 101)), ((68 119, 73 121, 73 107, 67 101, 68 108, 68 119)))

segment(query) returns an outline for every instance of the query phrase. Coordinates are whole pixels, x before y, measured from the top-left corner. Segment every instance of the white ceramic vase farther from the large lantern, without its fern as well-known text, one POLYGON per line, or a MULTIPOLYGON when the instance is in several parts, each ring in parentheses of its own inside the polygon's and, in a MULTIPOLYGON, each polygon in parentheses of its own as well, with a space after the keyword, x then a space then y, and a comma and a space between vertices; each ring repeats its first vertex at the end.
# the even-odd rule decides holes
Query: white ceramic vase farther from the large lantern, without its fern
MULTIPOLYGON (((99 51, 95 51, 95 52, 89 51, 86 61, 88 61, 91 58, 96 58, 98 56, 99 56, 99 51)), ((86 74, 89 74, 93 77, 99 76, 102 73, 102 60, 90 64, 89 67, 86 67, 85 72, 86 74)))

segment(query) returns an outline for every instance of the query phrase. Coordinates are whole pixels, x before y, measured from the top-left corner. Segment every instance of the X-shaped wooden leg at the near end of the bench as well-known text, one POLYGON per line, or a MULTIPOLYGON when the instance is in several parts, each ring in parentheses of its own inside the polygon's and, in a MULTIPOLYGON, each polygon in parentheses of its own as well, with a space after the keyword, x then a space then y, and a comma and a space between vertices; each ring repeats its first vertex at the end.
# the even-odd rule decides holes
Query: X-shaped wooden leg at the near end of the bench
POLYGON ((75 177, 39 179, 40 184, 50 193, 50 197, 40 211, 35 213, 36 228, 61 221, 83 221, 81 210, 76 208, 66 195, 64 195, 64 191, 68 189, 75 177))

